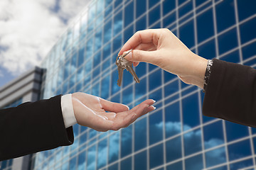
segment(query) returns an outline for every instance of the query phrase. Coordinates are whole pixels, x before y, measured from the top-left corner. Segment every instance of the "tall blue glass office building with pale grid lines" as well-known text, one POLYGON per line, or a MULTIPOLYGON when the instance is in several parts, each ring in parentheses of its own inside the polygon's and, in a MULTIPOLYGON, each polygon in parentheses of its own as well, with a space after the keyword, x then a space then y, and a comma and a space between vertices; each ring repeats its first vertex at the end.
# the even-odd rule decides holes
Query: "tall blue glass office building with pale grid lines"
POLYGON ((117 53, 146 28, 169 28, 208 59, 256 66, 256 1, 91 1, 41 65, 42 98, 82 91, 130 108, 153 98, 156 110, 117 132, 74 125, 74 144, 39 152, 34 169, 255 169, 256 130, 203 116, 201 89, 146 63, 139 84, 124 71, 117 86, 117 53))

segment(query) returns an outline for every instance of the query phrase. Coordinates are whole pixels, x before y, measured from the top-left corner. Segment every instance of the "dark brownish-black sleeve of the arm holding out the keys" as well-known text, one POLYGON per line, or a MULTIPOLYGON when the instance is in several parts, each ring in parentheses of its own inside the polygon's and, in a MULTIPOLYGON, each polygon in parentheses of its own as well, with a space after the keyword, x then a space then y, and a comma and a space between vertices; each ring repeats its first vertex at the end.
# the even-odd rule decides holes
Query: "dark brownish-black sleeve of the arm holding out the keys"
POLYGON ((214 59, 203 114, 256 128, 256 70, 214 59))

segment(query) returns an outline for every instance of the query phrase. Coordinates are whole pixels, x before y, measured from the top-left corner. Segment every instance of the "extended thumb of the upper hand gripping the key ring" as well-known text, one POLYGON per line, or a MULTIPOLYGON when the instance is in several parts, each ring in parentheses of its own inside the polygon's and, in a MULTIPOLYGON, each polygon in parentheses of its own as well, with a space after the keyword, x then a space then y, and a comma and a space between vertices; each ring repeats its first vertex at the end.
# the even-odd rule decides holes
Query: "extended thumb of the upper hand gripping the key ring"
POLYGON ((132 50, 132 52, 129 52, 124 58, 130 62, 149 62, 155 64, 157 60, 156 56, 154 51, 132 50))

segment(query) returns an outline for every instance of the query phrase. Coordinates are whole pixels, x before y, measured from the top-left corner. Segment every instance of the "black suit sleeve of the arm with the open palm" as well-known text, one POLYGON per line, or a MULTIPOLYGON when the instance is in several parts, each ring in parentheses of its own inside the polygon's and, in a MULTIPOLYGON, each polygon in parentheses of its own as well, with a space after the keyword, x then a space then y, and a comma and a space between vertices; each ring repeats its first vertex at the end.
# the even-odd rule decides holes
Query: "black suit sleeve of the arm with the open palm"
POLYGON ((60 99, 0 110, 0 160, 73 144, 73 128, 65 128, 60 99))

